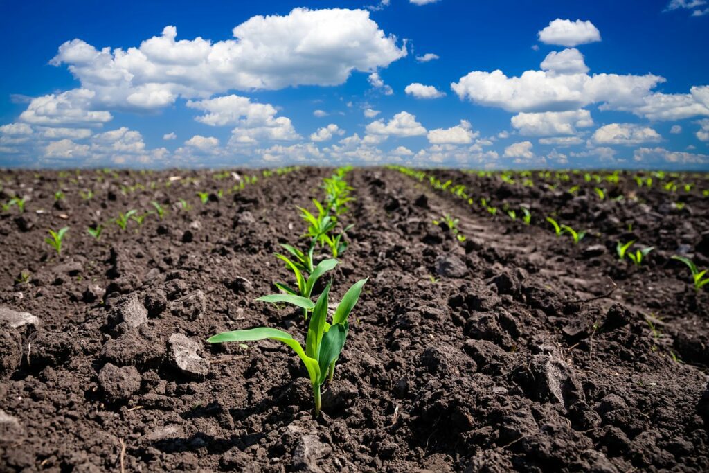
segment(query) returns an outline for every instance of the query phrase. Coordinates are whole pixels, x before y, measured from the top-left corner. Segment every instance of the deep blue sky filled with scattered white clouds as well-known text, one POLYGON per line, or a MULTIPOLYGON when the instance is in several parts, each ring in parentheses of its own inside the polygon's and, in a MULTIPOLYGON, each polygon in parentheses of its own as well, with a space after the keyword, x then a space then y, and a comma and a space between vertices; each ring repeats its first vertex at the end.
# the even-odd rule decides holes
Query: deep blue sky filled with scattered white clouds
POLYGON ((0 167, 709 171, 708 0, 0 3, 0 167))

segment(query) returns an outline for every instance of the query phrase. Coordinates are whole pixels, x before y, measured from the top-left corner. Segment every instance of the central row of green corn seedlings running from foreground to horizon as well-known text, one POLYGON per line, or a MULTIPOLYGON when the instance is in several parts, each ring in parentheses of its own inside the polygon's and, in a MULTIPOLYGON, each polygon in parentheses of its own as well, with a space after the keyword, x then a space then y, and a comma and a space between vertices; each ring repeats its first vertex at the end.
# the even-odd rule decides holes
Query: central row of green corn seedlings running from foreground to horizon
POLYGON ((219 333, 208 338, 208 343, 245 343, 270 339, 284 343, 303 361, 308 371, 313 390, 315 415, 320 415, 322 407, 320 391, 325 382, 333 382, 335 366, 340 358, 342 348, 350 331, 348 318, 362 293, 362 287, 367 278, 360 279, 350 286, 339 303, 331 302, 333 279, 325 285, 325 289, 317 296, 316 283, 325 277, 337 265, 337 257, 347 250, 347 230, 352 225, 342 222, 352 201, 350 192, 353 190, 347 184, 345 177, 351 167, 342 167, 331 177, 323 179, 322 189, 325 199, 313 199, 315 211, 298 207, 301 218, 306 223, 305 233, 299 240, 305 243, 281 244, 288 255, 276 253, 275 257, 284 262, 293 274, 291 284, 274 282, 279 294, 261 296, 257 301, 269 304, 291 304, 303 311, 303 322, 307 323, 305 348, 291 333, 272 327, 257 327, 247 330, 233 330, 219 333), (323 252, 327 252, 323 255, 323 252))

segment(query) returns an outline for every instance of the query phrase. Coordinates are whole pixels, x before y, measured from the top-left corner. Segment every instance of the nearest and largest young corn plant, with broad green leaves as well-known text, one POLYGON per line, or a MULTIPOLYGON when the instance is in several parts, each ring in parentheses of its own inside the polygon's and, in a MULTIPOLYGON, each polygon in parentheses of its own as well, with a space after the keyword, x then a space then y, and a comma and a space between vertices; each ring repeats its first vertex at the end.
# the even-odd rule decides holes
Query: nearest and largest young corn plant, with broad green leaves
MULTIPOLYGON (((303 350, 298 340, 293 338, 288 332, 277 328, 258 327, 250 330, 235 330, 232 332, 223 332, 214 335, 207 339, 208 343, 229 343, 229 342, 257 342, 259 340, 270 339, 284 343, 291 347, 296 352, 296 355, 301 358, 303 365, 306 365, 308 377, 310 377, 311 386, 313 388, 313 401, 315 404, 315 416, 320 416, 320 386, 325 383, 330 375, 332 382, 333 374, 335 373, 335 364, 340 358, 342 348, 345 347, 347 341, 347 333, 350 331, 350 324, 347 321, 352 308, 357 304, 359 294, 362 292, 362 286, 367 282, 367 279, 358 281, 347 290, 347 293, 337 304, 335 313, 330 322, 328 322, 328 304, 330 296, 330 284, 325 287, 325 290, 318 297, 318 301, 313 306, 313 317, 308 325, 308 335, 306 336, 306 348, 303 350)), ((305 299, 305 298, 302 298, 305 299)), ((310 299, 306 299, 312 304, 310 299)), ((294 301, 289 301, 293 303, 294 301)), ((307 304, 305 301, 300 301, 301 305, 307 304)), ((296 304, 298 305, 298 304, 296 304)))

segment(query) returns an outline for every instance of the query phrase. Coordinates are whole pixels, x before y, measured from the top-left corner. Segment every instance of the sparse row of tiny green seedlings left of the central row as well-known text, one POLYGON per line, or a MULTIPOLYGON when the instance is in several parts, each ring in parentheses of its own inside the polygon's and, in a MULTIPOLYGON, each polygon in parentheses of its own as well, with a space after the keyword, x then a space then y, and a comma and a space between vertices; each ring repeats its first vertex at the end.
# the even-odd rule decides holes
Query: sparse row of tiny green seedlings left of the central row
MULTIPOLYGON (((283 167, 279 169, 265 169, 261 174, 263 177, 272 177, 274 175, 277 176, 283 176, 285 174, 288 174, 289 172, 293 172, 294 170, 298 169, 297 167, 283 167)), ((226 172, 226 174, 230 174, 226 172)), ((220 174, 215 174, 215 176, 218 176, 220 174)), ((241 191, 242 189, 245 189, 247 185, 252 185, 256 184, 259 182, 259 174, 253 174, 253 175, 248 175, 245 174, 243 176, 239 176, 239 182, 238 184, 235 184, 232 189, 228 190, 228 194, 232 194, 238 191, 241 191)), ((169 181, 168 181, 169 182, 169 181)), ((87 200, 91 199, 94 196, 93 191, 89 191, 90 194, 86 194, 84 191, 80 191, 82 193, 82 199, 87 200), (88 196, 87 198, 85 196, 88 196)), ((199 197, 201 203, 203 205, 208 204, 208 202, 211 200, 211 195, 214 194, 217 196, 218 199, 223 197, 223 191, 219 190, 216 191, 216 193, 211 193, 211 192, 196 192, 196 196, 199 197)), ((61 199, 63 199, 63 194, 61 199)), ((57 199, 57 196, 55 195, 55 199, 57 199)), ((23 199, 13 199, 16 200, 16 202, 13 202, 13 205, 18 206, 18 211, 20 213, 23 213, 25 211, 25 201, 26 197, 23 199), (21 202, 21 204, 20 204, 21 202)), ((91 237, 94 238, 94 240, 99 241, 101 240, 101 236, 104 235, 104 230, 108 228, 110 224, 115 225, 118 229, 121 231, 126 231, 128 230, 128 226, 130 225, 131 222, 135 223, 138 226, 138 229, 143 226, 143 223, 145 223, 145 219, 150 217, 150 216, 155 216, 157 220, 162 221, 165 216, 167 216, 167 208, 164 208, 158 201, 150 201, 150 206, 152 206, 152 210, 148 211, 143 211, 140 212, 136 210, 135 208, 131 208, 128 211, 125 212, 118 212, 118 216, 109 219, 106 222, 99 222, 99 223, 94 223, 94 225, 89 226, 86 228, 86 233, 91 235, 91 237)), ((178 208, 180 211, 189 211, 192 207, 191 204, 189 204, 189 201, 187 199, 178 199, 177 203, 175 204, 176 208, 178 208)), ((49 236, 45 238, 45 243, 50 245, 52 249, 57 253, 58 256, 62 254, 62 246, 63 242, 65 240, 65 237, 67 233, 69 232, 69 227, 65 226, 60 228, 59 230, 54 230, 54 229, 49 229, 48 233, 49 236)))

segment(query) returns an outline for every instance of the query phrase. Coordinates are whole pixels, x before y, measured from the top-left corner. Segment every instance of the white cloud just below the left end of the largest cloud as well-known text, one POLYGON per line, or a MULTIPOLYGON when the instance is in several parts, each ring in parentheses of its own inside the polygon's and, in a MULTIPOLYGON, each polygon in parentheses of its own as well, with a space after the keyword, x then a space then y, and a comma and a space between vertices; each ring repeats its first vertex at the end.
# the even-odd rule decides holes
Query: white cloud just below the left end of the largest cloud
POLYGON ((36 97, 20 114, 20 120, 43 126, 100 125, 111 121, 113 117, 108 111, 91 111, 91 100, 95 95, 88 89, 72 89, 36 97))

